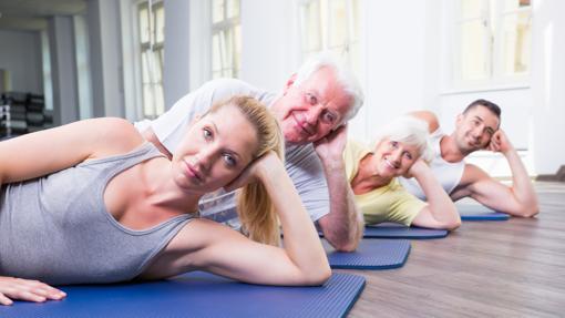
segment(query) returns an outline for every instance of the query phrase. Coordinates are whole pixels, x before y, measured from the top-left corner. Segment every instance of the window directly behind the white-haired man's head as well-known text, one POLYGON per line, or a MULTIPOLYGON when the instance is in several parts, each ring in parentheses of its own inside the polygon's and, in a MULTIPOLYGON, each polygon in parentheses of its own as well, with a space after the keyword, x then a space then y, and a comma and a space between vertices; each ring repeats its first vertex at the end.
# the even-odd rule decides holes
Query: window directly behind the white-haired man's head
POLYGON ((359 0, 304 0, 299 4, 302 59, 329 50, 359 74, 359 0))

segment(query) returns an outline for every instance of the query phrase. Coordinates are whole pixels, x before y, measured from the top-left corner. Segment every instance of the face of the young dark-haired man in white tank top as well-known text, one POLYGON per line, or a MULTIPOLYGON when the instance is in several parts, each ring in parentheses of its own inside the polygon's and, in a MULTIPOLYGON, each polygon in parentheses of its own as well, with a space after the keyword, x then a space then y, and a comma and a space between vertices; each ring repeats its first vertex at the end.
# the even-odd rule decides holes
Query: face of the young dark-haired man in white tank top
POLYGON ((475 106, 460 114, 455 123, 455 142, 459 150, 469 154, 485 148, 499 130, 500 121, 485 106, 475 106))

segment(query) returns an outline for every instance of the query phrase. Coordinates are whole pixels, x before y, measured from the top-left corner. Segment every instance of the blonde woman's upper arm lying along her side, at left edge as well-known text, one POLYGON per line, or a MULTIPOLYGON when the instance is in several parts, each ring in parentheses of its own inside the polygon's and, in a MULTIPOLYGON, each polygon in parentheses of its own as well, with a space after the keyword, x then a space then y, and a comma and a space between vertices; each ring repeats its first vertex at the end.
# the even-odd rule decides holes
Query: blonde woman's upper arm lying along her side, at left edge
POLYGON ((133 150, 143 142, 131 123, 94 119, 40 131, 0 143, 0 183, 39 177, 88 158, 133 150))

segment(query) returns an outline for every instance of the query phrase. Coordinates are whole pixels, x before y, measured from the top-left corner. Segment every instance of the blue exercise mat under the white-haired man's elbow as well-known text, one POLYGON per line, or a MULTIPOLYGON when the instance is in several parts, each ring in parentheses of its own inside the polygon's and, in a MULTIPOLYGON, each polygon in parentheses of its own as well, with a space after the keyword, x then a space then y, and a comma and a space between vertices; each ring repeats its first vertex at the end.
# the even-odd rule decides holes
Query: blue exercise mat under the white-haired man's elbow
POLYGON ((402 267, 410 253, 407 239, 362 239, 351 253, 336 252, 323 242, 331 268, 390 269, 402 267))

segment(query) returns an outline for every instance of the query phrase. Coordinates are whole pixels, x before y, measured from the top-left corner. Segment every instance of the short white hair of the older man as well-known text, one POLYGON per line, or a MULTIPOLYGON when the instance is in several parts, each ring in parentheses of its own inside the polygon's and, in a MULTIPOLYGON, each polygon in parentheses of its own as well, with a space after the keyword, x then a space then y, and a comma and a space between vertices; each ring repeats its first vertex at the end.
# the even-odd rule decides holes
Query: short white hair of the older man
POLYGON ((357 112, 359 112, 359 109, 361 109, 363 105, 364 96, 361 85, 359 84, 359 81, 357 80, 357 76, 353 74, 352 70, 342 61, 338 60, 333 53, 329 51, 322 51, 309 58, 306 62, 302 63, 300 69, 298 69, 292 85, 300 85, 321 68, 329 68, 333 71, 336 74, 336 81, 339 85, 341 85, 346 94, 348 94, 352 100, 350 109, 343 117, 342 123, 345 123, 352 119, 357 112))

